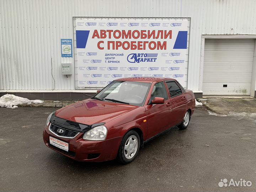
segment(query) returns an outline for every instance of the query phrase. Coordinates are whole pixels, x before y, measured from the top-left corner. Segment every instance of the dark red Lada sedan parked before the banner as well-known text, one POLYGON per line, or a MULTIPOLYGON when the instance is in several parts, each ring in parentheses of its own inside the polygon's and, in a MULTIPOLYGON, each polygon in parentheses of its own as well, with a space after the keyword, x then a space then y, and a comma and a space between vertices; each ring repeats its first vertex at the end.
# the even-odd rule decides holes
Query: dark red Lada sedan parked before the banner
POLYGON ((175 79, 123 78, 94 97, 49 115, 43 131, 51 149, 78 161, 127 164, 165 130, 186 129, 195 97, 175 79))

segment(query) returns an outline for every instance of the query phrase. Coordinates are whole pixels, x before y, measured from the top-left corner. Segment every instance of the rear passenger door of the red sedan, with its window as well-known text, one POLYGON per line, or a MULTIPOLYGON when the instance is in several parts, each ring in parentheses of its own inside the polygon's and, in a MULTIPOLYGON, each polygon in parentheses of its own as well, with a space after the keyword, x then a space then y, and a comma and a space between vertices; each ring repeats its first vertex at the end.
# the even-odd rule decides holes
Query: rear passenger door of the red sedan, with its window
POLYGON ((170 93, 170 101, 172 105, 171 126, 182 122, 187 109, 187 98, 185 90, 180 87, 176 81, 165 81, 167 89, 170 93))

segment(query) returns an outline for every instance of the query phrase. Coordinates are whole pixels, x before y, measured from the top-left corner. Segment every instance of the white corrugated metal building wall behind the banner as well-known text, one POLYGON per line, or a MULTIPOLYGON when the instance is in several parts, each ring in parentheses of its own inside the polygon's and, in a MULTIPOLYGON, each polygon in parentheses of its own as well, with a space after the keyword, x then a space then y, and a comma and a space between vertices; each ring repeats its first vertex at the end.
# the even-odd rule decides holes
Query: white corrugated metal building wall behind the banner
POLYGON ((198 90, 202 34, 256 34, 255 9, 255 0, 0 0, 0 90, 75 89, 75 75, 61 73, 74 58, 60 57, 73 16, 191 17, 188 89, 198 90))

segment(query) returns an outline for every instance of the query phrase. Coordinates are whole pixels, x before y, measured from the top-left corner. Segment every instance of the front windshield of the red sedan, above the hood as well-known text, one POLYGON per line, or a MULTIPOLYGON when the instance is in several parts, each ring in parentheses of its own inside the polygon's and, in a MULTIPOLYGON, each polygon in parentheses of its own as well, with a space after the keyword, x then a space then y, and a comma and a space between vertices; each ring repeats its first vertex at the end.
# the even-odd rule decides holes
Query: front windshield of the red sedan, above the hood
POLYGON ((142 106, 150 83, 135 81, 113 81, 95 97, 110 102, 142 106))

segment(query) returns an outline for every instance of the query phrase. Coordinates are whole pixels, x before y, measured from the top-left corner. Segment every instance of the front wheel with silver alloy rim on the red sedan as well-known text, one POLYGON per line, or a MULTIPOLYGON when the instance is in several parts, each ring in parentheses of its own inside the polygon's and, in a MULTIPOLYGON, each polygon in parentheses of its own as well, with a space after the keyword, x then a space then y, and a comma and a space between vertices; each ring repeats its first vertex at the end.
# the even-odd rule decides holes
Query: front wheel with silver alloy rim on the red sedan
POLYGON ((139 148, 139 134, 135 130, 130 130, 124 135, 119 146, 117 154, 118 161, 121 162, 121 164, 128 164, 129 162, 132 162, 136 158, 139 148))

